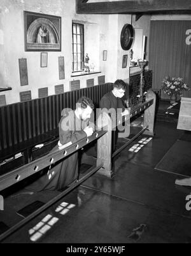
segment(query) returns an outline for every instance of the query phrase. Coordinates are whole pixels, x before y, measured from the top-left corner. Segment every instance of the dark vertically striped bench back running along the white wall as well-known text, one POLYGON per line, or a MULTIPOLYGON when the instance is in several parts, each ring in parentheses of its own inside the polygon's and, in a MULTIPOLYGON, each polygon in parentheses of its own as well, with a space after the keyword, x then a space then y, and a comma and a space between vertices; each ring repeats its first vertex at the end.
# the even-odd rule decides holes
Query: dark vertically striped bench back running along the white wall
POLYGON ((34 146, 47 145, 50 142, 52 145, 55 144, 59 136, 60 113, 64 108, 74 109, 81 96, 90 97, 95 106, 98 106, 101 97, 112 89, 113 83, 104 83, 2 106, 0 108, 0 175, 12 169, 11 166, 15 168, 31 162, 34 159, 32 155, 34 146), (21 153, 21 156, 15 159, 18 153, 21 153))

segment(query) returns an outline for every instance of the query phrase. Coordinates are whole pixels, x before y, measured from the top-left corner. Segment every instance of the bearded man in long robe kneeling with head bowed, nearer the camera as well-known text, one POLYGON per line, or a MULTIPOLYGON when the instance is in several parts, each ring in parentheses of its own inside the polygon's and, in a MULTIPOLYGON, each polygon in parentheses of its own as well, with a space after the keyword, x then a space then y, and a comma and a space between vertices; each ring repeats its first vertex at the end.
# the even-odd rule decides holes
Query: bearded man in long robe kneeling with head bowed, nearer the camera
MULTIPOLYGON (((91 136, 94 132, 89 120, 94 109, 92 100, 81 97, 76 104, 76 110, 62 110, 59 122, 59 142, 51 152, 62 149, 64 145, 71 145, 80 139, 91 136)), ((37 181, 27 187, 28 190, 63 190, 76 182, 78 178, 78 151, 65 159, 59 160, 49 171, 37 181)))

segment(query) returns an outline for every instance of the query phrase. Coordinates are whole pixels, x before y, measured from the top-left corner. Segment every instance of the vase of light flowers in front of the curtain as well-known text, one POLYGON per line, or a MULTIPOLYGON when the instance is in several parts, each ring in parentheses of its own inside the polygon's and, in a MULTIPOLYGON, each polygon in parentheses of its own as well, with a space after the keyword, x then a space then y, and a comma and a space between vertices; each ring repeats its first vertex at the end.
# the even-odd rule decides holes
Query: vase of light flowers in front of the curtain
POLYGON ((173 104, 177 101, 177 96, 182 96, 183 90, 190 90, 190 88, 183 82, 183 78, 166 76, 162 81, 162 90, 164 94, 170 96, 171 104, 173 104))

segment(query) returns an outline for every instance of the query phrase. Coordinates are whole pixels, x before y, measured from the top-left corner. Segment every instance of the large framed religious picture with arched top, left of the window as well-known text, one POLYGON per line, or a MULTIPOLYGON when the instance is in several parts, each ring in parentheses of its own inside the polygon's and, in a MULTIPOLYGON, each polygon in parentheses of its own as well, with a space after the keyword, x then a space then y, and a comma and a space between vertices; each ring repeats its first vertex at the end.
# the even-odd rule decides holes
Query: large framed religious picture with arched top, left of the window
POLYGON ((61 17, 24 11, 26 52, 61 51, 61 17))

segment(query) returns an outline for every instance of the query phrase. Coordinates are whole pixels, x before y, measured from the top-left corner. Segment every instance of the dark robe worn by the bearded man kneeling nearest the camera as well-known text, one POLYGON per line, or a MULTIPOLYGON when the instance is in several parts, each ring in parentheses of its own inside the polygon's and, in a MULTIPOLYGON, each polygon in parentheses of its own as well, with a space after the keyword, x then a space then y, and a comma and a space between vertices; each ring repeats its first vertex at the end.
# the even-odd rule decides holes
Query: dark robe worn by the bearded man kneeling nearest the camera
MULTIPOLYGON (((62 111, 62 117, 59 122, 59 140, 60 144, 75 143, 80 139, 86 138, 87 134, 83 129, 87 126, 87 122, 81 121, 76 117, 74 111, 62 111), (66 131, 64 125, 67 125, 66 131), (65 130, 65 131, 64 131, 65 130)), ((59 146, 55 146, 51 152, 58 150, 59 146)), ((52 168, 45 175, 41 176, 37 181, 32 183, 27 189, 33 191, 41 190, 62 190, 63 188, 74 183, 78 178, 78 152, 69 155, 64 160, 60 160, 52 165, 52 168)))

